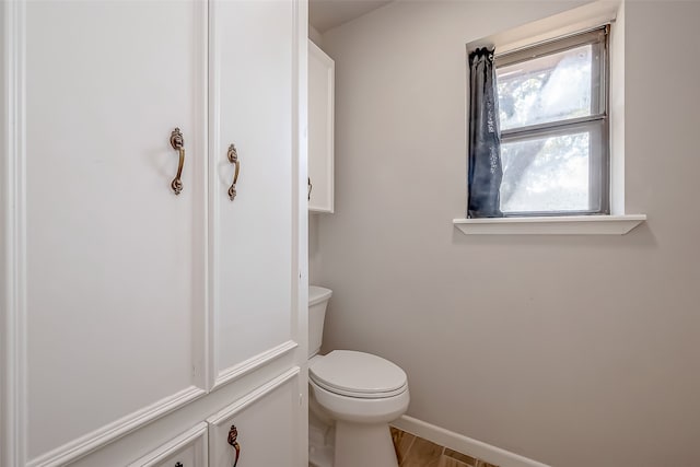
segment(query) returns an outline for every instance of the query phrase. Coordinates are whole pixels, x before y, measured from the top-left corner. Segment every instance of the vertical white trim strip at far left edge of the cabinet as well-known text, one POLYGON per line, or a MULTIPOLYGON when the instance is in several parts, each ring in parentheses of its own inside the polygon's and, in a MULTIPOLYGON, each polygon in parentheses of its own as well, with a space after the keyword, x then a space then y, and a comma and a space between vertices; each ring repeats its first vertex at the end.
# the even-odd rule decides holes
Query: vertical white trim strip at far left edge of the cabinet
POLYGON ((0 464, 23 466, 26 459, 26 5, 2 2, 2 133, 3 245, 2 399, 0 464))

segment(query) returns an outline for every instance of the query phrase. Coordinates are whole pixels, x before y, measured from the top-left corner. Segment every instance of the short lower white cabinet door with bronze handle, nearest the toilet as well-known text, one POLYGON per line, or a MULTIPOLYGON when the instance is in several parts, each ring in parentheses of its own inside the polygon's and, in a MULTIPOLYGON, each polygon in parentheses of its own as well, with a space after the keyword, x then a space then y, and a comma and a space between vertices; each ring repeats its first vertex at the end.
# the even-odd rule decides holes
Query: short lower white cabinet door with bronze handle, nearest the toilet
POLYGON ((210 417, 210 465, 233 465, 235 441, 237 467, 300 466, 298 436, 290 435, 301 428, 299 384, 299 367, 292 369, 210 417))

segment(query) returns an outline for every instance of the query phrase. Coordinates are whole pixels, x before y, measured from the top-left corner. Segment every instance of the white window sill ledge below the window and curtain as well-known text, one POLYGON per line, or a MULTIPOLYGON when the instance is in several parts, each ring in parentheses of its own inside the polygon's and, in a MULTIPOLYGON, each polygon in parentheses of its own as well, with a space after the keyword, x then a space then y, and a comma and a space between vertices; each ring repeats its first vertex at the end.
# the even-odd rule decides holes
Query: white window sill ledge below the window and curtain
POLYGON ((625 235, 646 214, 454 219, 465 235, 625 235))

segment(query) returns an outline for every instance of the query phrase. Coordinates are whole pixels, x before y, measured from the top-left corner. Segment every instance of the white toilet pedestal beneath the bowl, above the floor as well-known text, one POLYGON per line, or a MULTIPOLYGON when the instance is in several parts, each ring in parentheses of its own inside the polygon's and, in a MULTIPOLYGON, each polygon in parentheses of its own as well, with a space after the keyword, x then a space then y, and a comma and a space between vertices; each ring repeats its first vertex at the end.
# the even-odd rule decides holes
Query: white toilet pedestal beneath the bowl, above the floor
POLYGON ((336 421, 334 467, 398 467, 387 423, 336 421))

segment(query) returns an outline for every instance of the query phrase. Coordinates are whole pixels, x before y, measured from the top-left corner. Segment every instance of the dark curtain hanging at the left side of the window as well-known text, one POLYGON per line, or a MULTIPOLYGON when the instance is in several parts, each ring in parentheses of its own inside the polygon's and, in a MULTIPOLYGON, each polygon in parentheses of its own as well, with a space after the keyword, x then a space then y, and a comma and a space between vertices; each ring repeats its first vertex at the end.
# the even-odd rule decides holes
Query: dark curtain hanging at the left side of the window
POLYGON ((493 50, 469 54, 468 218, 502 218, 500 209, 501 129, 493 50))

